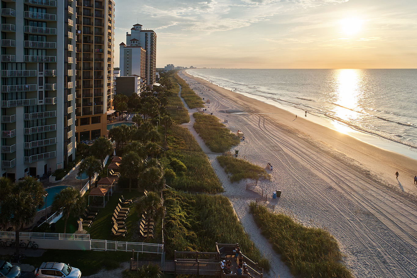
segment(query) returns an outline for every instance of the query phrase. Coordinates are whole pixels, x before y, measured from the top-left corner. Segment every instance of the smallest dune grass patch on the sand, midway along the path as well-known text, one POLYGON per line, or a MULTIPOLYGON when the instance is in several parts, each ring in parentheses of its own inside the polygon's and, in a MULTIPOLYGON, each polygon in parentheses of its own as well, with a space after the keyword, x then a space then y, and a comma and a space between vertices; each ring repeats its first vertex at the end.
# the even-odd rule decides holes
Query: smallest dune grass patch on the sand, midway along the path
POLYGON ((224 168, 224 171, 228 174, 230 181, 233 183, 235 181, 239 182, 242 179, 271 179, 271 175, 266 173, 264 168, 254 165, 246 160, 240 158, 234 158, 233 156, 218 156, 217 161, 219 161, 221 167, 224 168))

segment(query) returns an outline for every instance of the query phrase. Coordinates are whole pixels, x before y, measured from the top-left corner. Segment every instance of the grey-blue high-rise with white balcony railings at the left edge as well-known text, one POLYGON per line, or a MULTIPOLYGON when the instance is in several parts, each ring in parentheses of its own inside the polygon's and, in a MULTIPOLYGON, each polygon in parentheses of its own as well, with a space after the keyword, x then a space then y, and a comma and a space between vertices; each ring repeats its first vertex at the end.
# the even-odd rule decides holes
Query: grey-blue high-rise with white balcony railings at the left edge
POLYGON ((75 158, 75 1, 1 2, 1 174, 75 158))

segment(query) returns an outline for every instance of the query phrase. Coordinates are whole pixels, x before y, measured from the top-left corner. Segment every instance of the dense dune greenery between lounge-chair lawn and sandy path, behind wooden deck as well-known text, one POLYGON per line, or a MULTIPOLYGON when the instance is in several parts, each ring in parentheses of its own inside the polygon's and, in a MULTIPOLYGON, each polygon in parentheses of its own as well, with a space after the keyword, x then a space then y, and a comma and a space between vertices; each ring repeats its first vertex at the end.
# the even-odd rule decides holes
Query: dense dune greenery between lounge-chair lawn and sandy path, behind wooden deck
POLYGON ((173 250, 215 252, 216 242, 239 243, 242 253, 269 271, 268 260, 245 233, 228 198, 174 190, 163 195, 167 257, 173 257, 173 250))

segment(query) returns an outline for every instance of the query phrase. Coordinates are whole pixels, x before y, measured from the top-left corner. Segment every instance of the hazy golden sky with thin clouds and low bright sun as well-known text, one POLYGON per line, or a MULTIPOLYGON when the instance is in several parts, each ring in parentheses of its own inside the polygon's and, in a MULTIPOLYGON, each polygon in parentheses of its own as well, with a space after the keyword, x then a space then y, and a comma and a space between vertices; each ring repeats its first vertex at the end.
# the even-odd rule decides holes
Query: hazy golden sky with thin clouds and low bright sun
POLYGON ((118 45, 153 30, 156 66, 417 68, 417 0, 116 0, 118 45))

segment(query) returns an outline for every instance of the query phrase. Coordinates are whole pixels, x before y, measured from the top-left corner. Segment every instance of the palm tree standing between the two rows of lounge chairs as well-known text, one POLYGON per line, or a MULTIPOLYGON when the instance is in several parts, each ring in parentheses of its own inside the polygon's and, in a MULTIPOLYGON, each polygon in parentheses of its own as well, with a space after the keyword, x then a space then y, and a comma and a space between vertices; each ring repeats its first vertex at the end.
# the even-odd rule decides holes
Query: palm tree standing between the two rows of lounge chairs
POLYGON ((162 199, 156 192, 150 191, 147 195, 143 195, 137 203, 135 203, 135 209, 138 212, 139 217, 144 213, 148 219, 148 234, 149 235, 149 224, 151 219, 157 220, 158 217, 164 213, 162 205, 162 199))

